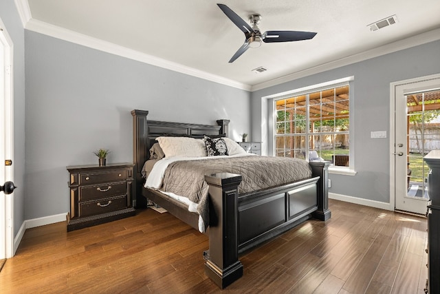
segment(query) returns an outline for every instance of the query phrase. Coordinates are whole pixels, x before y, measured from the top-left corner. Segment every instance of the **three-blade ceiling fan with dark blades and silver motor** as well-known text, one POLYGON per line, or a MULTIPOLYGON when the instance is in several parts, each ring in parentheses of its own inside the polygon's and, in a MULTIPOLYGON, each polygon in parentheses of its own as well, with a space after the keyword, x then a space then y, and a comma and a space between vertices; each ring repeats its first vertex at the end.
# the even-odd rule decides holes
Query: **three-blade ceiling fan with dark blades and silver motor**
POLYGON ((259 48, 261 46, 261 41, 264 43, 291 42, 309 40, 316 35, 316 32, 298 32, 289 30, 269 30, 261 34, 260 29, 257 26, 261 20, 260 14, 250 15, 249 19, 252 24, 251 27, 228 6, 219 3, 217 3, 217 6, 219 6, 226 16, 245 33, 245 43, 243 43, 239 50, 235 52, 234 56, 232 56, 229 61, 230 63, 234 62, 235 59, 238 59, 241 54, 248 50, 248 48, 259 48))

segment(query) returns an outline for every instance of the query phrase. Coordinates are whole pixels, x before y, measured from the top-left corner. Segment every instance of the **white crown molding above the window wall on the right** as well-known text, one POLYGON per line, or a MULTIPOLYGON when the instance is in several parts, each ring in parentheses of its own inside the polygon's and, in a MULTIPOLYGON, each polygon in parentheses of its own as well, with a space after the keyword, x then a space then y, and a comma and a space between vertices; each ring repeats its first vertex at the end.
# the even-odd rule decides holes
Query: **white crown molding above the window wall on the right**
POLYGON ((437 41, 440 39, 440 28, 436 30, 431 30, 423 34, 417 34, 416 36, 411 36, 407 39, 389 43, 371 50, 367 50, 358 54, 354 54, 343 59, 338 59, 336 61, 331 61, 329 63, 324 63, 316 67, 310 67, 307 70, 301 70, 300 72, 294 72, 292 74, 287 74, 287 76, 281 76, 280 78, 274 78, 271 81, 259 83, 252 85, 251 92, 262 90, 267 87, 272 87, 274 85, 280 85, 289 81, 296 80, 298 78, 304 78, 305 76, 311 76, 312 74, 319 74, 320 72, 326 72, 327 70, 334 70, 338 67, 345 65, 350 65, 360 61, 365 61, 367 59, 372 59, 378 56, 382 56, 388 53, 397 52, 407 48, 415 47, 417 45, 422 45, 425 43, 430 43, 432 41, 437 41))

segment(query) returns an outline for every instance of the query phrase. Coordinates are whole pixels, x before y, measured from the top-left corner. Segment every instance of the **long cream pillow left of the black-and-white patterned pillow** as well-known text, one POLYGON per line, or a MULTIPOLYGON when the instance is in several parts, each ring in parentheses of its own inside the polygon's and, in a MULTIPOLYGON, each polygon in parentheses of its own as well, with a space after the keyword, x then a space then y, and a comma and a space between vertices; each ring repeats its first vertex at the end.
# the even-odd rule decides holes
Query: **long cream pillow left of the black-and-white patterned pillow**
POLYGON ((207 156, 205 143, 201 139, 188 137, 157 137, 165 157, 207 156))

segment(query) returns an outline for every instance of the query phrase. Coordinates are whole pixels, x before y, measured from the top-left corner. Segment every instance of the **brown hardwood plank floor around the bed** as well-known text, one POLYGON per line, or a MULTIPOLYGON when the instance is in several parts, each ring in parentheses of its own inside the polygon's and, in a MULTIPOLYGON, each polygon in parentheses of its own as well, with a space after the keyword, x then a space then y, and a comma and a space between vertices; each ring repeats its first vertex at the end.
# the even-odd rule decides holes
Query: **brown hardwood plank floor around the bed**
POLYGON ((204 274, 206 235, 169 213, 67 233, 28 229, 0 272, 1 293, 423 293, 426 218, 330 200, 309 220, 243 253, 244 275, 221 291, 204 274))

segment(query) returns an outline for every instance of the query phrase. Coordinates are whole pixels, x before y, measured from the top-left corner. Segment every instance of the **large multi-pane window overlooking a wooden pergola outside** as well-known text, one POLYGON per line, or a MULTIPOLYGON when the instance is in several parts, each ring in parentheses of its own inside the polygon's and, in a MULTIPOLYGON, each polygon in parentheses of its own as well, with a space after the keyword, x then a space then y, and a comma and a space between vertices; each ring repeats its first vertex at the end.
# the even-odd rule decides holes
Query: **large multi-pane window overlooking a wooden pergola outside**
POLYGON ((275 100, 275 155, 349 167, 349 97, 347 82, 275 100))

